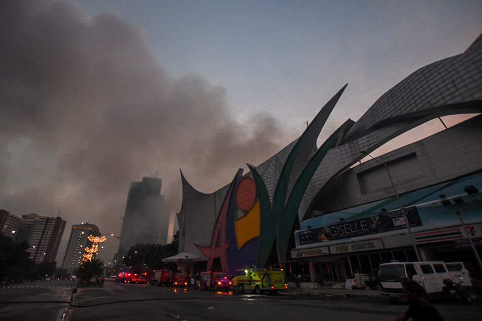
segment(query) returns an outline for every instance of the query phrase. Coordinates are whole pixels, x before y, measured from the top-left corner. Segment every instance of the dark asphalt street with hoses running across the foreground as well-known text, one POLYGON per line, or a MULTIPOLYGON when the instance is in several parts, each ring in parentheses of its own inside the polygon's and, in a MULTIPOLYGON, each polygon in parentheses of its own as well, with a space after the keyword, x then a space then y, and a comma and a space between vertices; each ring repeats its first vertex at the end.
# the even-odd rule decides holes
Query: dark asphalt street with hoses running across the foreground
MULTIPOLYGON (((69 305, 72 281, 53 280, 0 288, 2 320, 393 320, 407 306, 380 298, 304 295, 234 295, 232 292, 107 282, 79 288, 69 305), (46 283, 49 283, 46 285, 46 283)), ((480 305, 436 304, 447 321, 479 319, 480 305)))

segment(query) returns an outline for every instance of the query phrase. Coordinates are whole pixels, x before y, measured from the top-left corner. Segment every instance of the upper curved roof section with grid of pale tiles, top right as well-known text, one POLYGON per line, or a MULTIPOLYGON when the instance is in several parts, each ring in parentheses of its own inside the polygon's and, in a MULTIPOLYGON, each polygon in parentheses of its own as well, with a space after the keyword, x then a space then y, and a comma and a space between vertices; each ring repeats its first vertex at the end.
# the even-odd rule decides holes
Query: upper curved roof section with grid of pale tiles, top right
POLYGON ((387 91, 356 122, 345 140, 356 139, 390 119, 429 114, 441 106, 480 99, 482 34, 464 53, 422 67, 387 91))

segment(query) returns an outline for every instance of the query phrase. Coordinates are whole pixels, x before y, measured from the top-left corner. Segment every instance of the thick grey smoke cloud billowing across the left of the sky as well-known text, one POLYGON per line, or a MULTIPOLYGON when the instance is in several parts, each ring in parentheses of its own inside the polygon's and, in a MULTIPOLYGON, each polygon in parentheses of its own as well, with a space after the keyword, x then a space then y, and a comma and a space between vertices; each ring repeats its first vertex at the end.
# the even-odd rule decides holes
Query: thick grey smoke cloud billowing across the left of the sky
MULTIPOLYGON (((146 31, 75 4, 0 4, 0 208, 120 232, 131 181, 163 180, 181 207, 182 169, 209 193, 286 143, 269 115, 236 121, 226 89, 174 79, 146 31)), ((64 236, 65 237, 65 236, 64 236)), ((112 253, 113 254, 113 253, 112 253)))

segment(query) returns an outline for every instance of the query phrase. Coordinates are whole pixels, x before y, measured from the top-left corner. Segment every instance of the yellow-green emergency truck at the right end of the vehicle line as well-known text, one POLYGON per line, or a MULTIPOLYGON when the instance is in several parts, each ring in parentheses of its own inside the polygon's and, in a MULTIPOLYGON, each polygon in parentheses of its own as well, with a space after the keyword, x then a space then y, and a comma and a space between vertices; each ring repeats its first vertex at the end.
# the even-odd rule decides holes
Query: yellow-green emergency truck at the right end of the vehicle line
POLYGON ((265 291, 277 294, 279 290, 288 289, 283 269, 240 269, 237 271, 236 279, 239 293, 250 290, 256 294, 263 294, 265 291))

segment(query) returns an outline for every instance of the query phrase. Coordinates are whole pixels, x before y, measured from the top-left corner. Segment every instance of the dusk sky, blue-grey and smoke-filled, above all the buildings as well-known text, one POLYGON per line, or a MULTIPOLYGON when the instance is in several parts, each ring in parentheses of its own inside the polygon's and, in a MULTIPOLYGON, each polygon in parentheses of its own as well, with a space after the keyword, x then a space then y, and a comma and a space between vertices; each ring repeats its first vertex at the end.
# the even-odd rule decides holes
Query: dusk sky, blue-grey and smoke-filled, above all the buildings
POLYGON ((0 208, 60 215, 63 239, 82 222, 118 236, 130 182, 155 175, 174 218, 180 170, 216 191, 348 83, 321 143, 418 68, 465 51, 480 16, 479 0, 2 1, 0 208))

